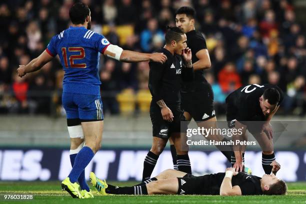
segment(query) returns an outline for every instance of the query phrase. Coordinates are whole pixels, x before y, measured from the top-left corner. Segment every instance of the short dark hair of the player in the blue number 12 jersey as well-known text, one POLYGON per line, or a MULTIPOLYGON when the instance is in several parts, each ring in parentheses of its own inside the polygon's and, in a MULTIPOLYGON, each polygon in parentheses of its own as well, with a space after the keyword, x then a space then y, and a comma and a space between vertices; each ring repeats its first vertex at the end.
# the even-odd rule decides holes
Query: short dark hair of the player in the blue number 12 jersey
POLYGON ((85 3, 74 3, 69 10, 69 17, 73 24, 82 24, 89 15, 89 8, 85 3))

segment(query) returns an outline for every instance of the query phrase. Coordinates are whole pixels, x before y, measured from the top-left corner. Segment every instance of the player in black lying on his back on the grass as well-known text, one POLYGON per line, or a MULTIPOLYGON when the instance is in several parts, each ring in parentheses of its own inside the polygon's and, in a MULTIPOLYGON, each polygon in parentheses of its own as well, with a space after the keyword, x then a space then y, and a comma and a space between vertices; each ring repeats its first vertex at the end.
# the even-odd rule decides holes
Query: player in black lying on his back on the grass
MULTIPOLYGON (((279 169, 271 164, 274 172, 279 169)), ((157 176, 137 185, 118 187, 98 179, 93 172, 89 175, 92 185, 102 195, 107 194, 200 194, 200 195, 284 195, 287 185, 273 173, 261 177, 226 168, 224 173, 194 176, 178 170, 167 169, 157 176)))

